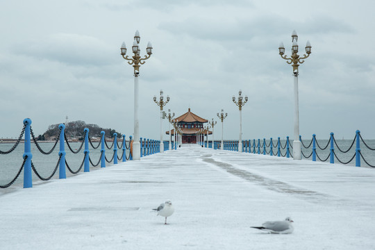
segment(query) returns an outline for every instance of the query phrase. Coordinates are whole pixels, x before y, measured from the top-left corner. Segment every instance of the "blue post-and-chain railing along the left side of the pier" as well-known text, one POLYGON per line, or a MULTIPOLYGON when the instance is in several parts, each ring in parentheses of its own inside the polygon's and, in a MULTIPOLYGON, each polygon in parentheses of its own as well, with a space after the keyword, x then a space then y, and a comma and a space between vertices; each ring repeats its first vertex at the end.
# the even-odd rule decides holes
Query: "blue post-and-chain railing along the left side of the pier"
MULTIPOLYGON (((83 167, 83 172, 90 172, 90 164, 92 167, 97 167, 99 163, 101 164, 101 167, 106 167, 106 162, 107 163, 112 163, 117 164, 117 160, 122 160, 122 162, 126 162, 126 160, 132 160, 132 155, 131 155, 131 144, 132 144, 132 137, 129 137, 128 143, 126 144, 126 136, 122 135, 122 144, 120 145, 117 142, 117 133, 115 133, 114 140, 112 142, 112 145, 108 146, 108 143, 106 141, 105 137, 105 132, 101 131, 101 140, 99 141, 99 144, 97 146, 94 146, 92 144, 92 140, 89 136, 89 129, 85 128, 84 129, 84 140, 81 142, 80 147, 77 150, 72 149, 69 140, 67 139, 67 136, 65 135, 65 125, 60 124, 58 126, 60 132, 58 137, 56 138, 53 147, 49 151, 44 151, 41 147, 40 144, 38 143, 38 140, 36 140, 33 130, 31 128, 31 119, 24 119, 24 127, 22 128, 22 132, 19 135, 19 138, 17 142, 9 149, 8 151, 1 151, 0 154, 6 155, 12 153, 19 143, 22 141, 22 137, 24 136, 24 154, 22 156, 23 158, 23 163, 22 166, 20 167, 19 171, 17 172, 15 178, 12 179, 9 183, 5 185, 0 185, 0 188, 8 188, 10 185, 15 183, 17 178, 22 172, 22 169, 24 169, 24 188, 32 188, 33 187, 33 181, 32 181, 32 172, 35 173, 38 178, 40 178, 42 181, 48 181, 50 180, 57 172, 57 169, 59 168, 59 177, 58 178, 66 178, 66 169, 69 170, 70 173, 72 174, 78 174, 78 172, 81 171, 83 167), (33 165, 33 153, 31 153, 31 140, 33 140, 35 147, 38 148, 40 153, 44 155, 49 155, 51 154, 54 149, 56 148, 57 143, 60 141, 60 149, 58 151, 58 163, 56 164, 56 167, 53 169, 53 172, 50 176, 48 177, 42 177, 40 173, 37 171, 36 167, 33 165), (65 151, 65 144, 69 148, 72 153, 79 153, 81 149, 83 148, 83 145, 85 145, 85 148, 83 150, 83 160, 81 165, 78 167, 76 171, 73 171, 72 168, 69 166, 67 159, 65 158, 66 156, 66 151, 65 151), (99 146, 101 145, 100 149, 100 157, 99 160, 96 164, 92 163, 92 159, 90 157, 90 150, 89 150, 89 144, 92 147, 92 150, 99 149, 99 146), (113 149, 113 154, 108 160, 106 156, 106 149, 111 150, 113 149), (118 156, 118 151, 122 150, 121 156, 118 156)), ((142 138, 140 140, 141 142, 141 157, 144 156, 149 156, 150 154, 153 153, 158 153, 160 151, 160 142, 158 140, 149 140, 149 139, 144 139, 142 142, 142 138)))

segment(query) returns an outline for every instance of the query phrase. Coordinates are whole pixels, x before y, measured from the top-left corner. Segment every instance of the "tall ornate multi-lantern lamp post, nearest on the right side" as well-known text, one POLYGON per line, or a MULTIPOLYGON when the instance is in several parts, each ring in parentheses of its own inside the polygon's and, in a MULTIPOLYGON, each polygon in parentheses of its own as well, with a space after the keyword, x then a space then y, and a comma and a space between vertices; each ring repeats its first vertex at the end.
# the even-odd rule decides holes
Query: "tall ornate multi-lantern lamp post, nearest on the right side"
POLYGON ((281 58, 287 60, 289 65, 293 67, 294 75, 294 140, 293 140, 293 158, 294 160, 301 160, 301 142, 299 141, 299 103, 298 103, 298 67, 299 63, 302 64, 305 62, 304 59, 308 58, 311 53, 311 44, 309 41, 306 42, 305 51, 302 57, 298 55, 298 35, 296 31, 292 32, 292 56, 288 58, 285 53, 285 47, 283 42, 278 46, 278 53, 281 58))

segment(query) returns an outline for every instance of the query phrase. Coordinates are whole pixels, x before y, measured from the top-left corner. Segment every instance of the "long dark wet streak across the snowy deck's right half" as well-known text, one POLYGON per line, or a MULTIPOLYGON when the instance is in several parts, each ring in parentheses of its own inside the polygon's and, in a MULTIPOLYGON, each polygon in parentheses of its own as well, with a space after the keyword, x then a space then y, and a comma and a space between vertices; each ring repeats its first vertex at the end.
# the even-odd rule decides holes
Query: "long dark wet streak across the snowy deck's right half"
POLYGON ((233 165, 229 163, 217 162, 213 160, 212 158, 203 158, 203 161, 206 163, 216 165, 217 167, 221 167, 222 169, 226 170, 226 172, 233 174, 235 176, 238 176, 240 178, 244 178, 247 181, 251 181, 258 185, 263 185, 267 189, 275 191, 275 192, 294 194, 297 197, 310 199, 310 200, 316 200, 316 201, 322 201, 322 198, 327 199, 329 197, 327 194, 322 194, 322 193, 311 191, 311 190, 301 189, 301 188, 292 186, 288 183, 284 183, 282 181, 276 181, 270 178, 266 178, 265 176, 253 174, 249 171, 235 168, 233 167, 233 165))

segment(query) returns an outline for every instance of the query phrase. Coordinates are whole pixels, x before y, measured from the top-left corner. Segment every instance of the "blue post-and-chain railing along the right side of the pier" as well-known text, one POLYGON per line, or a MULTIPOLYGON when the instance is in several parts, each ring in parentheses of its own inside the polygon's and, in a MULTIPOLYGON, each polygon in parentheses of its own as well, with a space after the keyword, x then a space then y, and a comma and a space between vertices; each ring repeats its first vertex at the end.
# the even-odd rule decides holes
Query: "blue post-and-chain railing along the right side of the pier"
MULTIPOLYGON (((365 159, 363 153, 361 152, 360 145, 362 144, 365 147, 365 150, 368 153, 367 157, 373 157, 371 156, 370 151, 375 151, 375 148, 369 147, 369 145, 365 142, 365 140, 363 140, 362 136, 360 135, 360 131, 356 131, 354 139, 351 141, 350 146, 346 150, 341 148, 343 146, 339 147, 338 141, 335 139, 334 133, 330 134, 330 137, 325 147, 320 147, 315 134, 313 135, 310 142, 307 143, 308 146, 306 146, 303 143, 301 135, 299 136, 299 140, 302 144, 301 154, 303 158, 311 158, 313 161, 316 161, 318 158, 318 160, 322 162, 328 161, 329 158, 330 163, 335 163, 336 159, 339 163, 344 165, 351 163, 355 159, 356 167, 360 167, 362 159, 363 162, 365 162, 365 164, 369 167, 375 167, 375 165, 370 164, 369 161, 365 159), (355 142, 356 146, 354 147, 355 142), (317 149, 319 150, 319 153, 317 149), (338 155, 339 153, 336 153, 336 149, 340 152, 340 155, 338 155), (328 150, 329 153, 327 154, 326 158, 321 158, 321 156, 319 156, 319 154, 322 154, 328 150), (348 155, 349 153, 350 155, 348 155), (343 158, 346 158, 346 160, 344 160, 343 158)), ((238 141, 225 141, 224 149, 229 151, 238 151, 238 141)), ((281 143, 280 138, 277 139, 277 142, 270 138, 268 143, 265 138, 263 138, 263 140, 253 139, 252 141, 242 141, 242 152, 244 153, 257 153, 269 156, 282 156, 290 158, 293 157, 290 149, 293 149, 293 147, 290 143, 288 136, 284 143, 281 143)), ((375 156, 373 158, 375 159, 375 156)))

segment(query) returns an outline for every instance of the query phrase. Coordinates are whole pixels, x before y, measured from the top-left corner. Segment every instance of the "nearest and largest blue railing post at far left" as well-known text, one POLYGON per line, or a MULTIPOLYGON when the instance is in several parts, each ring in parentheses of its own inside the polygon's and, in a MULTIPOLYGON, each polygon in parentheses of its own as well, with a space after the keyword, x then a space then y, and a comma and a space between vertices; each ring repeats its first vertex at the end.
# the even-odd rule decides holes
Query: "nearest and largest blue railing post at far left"
POLYGON ((30 125, 31 119, 26 118, 24 119, 25 128, 25 148, 24 148, 24 155, 22 158, 27 156, 24 165, 24 188, 33 188, 33 179, 31 178, 31 158, 33 158, 33 154, 31 153, 31 140, 30 140, 30 125))

